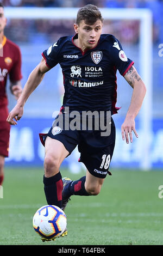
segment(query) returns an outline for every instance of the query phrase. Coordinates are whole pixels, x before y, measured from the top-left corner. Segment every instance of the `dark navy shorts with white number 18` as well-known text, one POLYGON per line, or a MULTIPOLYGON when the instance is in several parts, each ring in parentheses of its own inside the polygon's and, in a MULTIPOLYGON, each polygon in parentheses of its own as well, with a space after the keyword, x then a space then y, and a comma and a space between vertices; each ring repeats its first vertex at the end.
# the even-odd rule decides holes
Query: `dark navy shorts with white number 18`
POLYGON ((61 130, 58 126, 51 127, 47 134, 40 133, 43 145, 47 136, 62 142, 70 154, 78 145, 78 161, 83 162, 93 176, 105 178, 107 174, 111 175, 109 165, 115 147, 115 124, 112 118, 109 136, 101 136, 101 130, 61 130))

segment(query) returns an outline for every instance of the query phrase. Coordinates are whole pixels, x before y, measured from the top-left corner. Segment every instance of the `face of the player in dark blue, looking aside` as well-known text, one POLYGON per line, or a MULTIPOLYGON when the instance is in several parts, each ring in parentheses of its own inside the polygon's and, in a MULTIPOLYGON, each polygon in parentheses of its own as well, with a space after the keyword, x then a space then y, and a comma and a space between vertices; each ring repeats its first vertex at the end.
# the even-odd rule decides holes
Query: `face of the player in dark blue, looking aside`
POLYGON ((93 25, 87 25, 84 20, 79 25, 74 24, 74 30, 78 33, 79 47, 91 49, 95 47, 102 33, 102 21, 97 20, 93 25))

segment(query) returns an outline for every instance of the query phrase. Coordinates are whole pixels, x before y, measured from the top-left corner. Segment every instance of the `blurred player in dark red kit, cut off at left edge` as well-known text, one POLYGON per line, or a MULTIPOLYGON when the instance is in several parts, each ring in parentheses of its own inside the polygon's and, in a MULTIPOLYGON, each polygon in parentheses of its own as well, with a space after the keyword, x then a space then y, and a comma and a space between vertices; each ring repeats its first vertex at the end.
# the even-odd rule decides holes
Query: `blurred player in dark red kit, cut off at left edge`
POLYGON ((21 87, 21 52, 20 48, 4 35, 7 19, 4 7, 0 3, 0 185, 4 179, 4 159, 9 155, 10 124, 8 117, 8 99, 6 93, 7 77, 10 79, 10 90, 16 100, 22 92, 21 87))

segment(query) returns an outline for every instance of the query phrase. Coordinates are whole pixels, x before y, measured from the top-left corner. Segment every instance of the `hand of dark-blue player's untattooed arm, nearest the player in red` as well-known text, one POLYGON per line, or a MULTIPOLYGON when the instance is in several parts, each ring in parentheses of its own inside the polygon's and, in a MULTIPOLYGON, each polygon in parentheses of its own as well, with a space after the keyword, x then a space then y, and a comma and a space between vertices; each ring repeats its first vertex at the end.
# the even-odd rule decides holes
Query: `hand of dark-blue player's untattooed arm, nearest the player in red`
POLYGON ((8 115, 7 121, 11 125, 17 125, 17 121, 21 119, 23 115, 23 107, 18 104, 11 110, 8 115), (15 119, 15 120, 14 120, 15 119))

